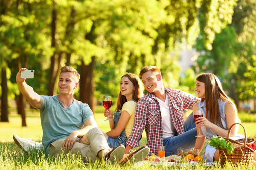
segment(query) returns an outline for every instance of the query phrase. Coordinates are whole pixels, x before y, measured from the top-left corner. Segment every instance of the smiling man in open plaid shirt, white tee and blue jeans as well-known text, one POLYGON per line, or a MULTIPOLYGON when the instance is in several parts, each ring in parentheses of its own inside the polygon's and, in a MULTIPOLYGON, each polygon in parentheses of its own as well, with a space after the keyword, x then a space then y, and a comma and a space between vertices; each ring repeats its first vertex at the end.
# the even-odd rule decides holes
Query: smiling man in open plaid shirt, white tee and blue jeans
POLYGON ((144 67, 140 71, 144 88, 148 91, 137 102, 134 127, 128 138, 125 153, 140 146, 145 129, 150 155, 158 155, 159 146, 166 146, 166 156, 177 153, 178 147, 192 148, 197 130, 191 113, 183 122, 183 109, 192 110, 200 99, 186 92, 165 88, 159 68, 144 67))

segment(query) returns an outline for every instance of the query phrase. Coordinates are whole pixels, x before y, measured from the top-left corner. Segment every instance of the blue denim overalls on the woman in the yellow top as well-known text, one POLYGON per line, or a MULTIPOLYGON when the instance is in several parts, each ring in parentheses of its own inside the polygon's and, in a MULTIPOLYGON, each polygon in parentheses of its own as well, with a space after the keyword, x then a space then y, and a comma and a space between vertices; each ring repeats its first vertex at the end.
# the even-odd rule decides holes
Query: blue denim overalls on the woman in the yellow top
MULTIPOLYGON (((115 112, 114 113, 114 119, 115 119, 115 127, 120 119, 121 116, 121 112, 115 112)), ((127 137, 125 134, 125 129, 122 131, 122 133, 120 134, 120 136, 117 136, 115 138, 111 138, 108 136, 108 146, 110 148, 114 148, 117 147, 119 144, 123 144, 124 146, 126 146, 126 141, 127 141, 127 137)))

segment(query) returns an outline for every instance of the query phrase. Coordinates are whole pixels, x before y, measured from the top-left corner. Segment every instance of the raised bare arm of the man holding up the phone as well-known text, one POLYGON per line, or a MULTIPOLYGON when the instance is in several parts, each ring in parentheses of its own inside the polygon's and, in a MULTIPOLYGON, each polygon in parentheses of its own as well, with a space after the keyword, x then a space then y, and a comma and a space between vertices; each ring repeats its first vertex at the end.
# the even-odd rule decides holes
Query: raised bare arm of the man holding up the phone
POLYGON ((41 105, 43 103, 42 97, 39 96, 39 94, 35 93, 34 89, 31 86, 26 84, 25 82, 26 78, 20 78, 21 72, 25 70, 28 70, 28 69, 21 68, 17 73, 16 81, 17 81, 18 88, 20 92, 23 94, 23 96, 25 96, 26 99, 28 99, 29 103, 33 106, 33 108, 39 109, 41 108, 41 105))

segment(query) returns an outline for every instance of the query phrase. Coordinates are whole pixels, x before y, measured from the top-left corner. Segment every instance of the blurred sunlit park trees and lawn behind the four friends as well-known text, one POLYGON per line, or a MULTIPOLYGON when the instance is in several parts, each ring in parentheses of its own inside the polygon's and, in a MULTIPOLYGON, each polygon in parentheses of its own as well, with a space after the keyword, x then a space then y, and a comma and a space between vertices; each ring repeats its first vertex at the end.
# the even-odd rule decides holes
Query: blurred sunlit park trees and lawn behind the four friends
POLYGON ((26 82, 55 95, 64 65, 81 74, 75 98, 104 131, 103 96, 113 97, 114 110, 121 76, 156 65, 166 87, 194 95, 195 78, 215 74, 254 137, 255 32, 255 0, 0 0, 0 153, 15 148, 15 133, 42 137, 38 111, 17 88, 18 70, 34 69, 26 82))

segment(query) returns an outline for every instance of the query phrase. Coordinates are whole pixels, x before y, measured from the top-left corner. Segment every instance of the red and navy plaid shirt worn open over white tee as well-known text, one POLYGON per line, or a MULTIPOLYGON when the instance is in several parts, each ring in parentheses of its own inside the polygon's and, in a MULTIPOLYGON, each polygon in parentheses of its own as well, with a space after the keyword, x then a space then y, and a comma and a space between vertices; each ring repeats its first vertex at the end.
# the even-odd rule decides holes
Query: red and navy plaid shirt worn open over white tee
MULTIPOLYGON (((172 122, 179 135, 184 132, 183 109, 192 110, 193 105, 200 99, 177 89, 165 88, 165 91, 169 98, 172 122)), ((126 144, 131 147, 140 146, 139 140, 144 129, 150 155, 151 153, 157 154, 158 147, 163 146, 163 122, 160 105, 152 93, 146 94, 137 102, 134 126, 126 144)))

